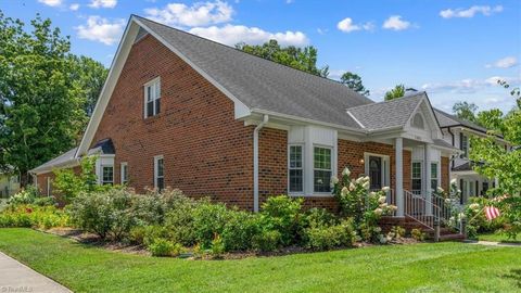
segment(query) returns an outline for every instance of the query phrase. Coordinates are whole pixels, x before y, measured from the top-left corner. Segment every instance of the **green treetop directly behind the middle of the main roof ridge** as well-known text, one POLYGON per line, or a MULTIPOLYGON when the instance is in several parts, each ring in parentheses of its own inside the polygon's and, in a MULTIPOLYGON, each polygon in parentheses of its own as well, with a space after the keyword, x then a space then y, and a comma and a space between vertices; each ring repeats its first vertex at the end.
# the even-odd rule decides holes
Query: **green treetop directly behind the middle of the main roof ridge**
POLYGON ((329 66, 317 67, 318 50, 313 46, 298 48, 295 46, 280 47, 277 40, 263 44, 238 43, 236 48, 246 53, 277 62, 298 71, 328 77, 329 66))

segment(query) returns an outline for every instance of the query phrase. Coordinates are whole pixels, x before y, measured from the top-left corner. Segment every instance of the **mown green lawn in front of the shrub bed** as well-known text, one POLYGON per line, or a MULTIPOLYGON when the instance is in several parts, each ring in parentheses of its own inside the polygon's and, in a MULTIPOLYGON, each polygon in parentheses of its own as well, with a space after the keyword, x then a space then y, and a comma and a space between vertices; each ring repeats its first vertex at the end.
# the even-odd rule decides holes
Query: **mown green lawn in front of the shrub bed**
POLYGON ((240 260, 122 254, 30 229, 0 251, 75 292, 519 292, 519 247, 372 246, 240 260))

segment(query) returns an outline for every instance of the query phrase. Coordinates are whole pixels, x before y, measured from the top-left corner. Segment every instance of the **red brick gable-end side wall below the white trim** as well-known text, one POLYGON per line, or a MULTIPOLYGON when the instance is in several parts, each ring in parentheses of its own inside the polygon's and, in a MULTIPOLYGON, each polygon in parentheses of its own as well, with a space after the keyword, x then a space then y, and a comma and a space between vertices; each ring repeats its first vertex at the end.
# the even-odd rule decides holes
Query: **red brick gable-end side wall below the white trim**
POLYGON ((152 188, 153 157, 164 155, 165 186, 253 208, 253 128, 234 119, 224 93, 147 36, 130 50, 92 143, 112 139, 116 183, 127 162, 129 186, 152 188), (143 85, 157 76, 161 113, 143 118, 143 85))

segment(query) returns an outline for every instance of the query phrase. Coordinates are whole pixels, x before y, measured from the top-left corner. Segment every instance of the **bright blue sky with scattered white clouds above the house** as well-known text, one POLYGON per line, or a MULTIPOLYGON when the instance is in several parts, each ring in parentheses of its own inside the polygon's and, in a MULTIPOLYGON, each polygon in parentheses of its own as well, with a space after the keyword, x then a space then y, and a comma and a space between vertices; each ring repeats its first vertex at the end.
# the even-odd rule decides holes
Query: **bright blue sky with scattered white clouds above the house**
POLYGON ((396 84, 427 90, 434 106, 514 104, 497 78, 521 85, 521 1, 0 0, 25 22, 50 17, 73 51, 111 64, 131 13, 234 44, 313 44, 332 78, 351 71, 371 99, 396 84))

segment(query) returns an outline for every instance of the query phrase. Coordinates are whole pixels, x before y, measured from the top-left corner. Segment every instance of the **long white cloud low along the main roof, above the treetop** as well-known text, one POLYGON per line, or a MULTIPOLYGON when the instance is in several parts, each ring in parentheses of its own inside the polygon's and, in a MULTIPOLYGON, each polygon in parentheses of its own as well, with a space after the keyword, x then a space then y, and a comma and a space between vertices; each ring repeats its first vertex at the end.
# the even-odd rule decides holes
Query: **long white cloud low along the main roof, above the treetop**
POLYGON ((258 27, 247 27, 243 25, 227 24, 223 27, 194 27, 188 31, 228 46, 234 46, 239 42, 258 44, 270 39, 276 39, 283 46, 304 46, 309 42, 306 35, 302 31, 287 30, 284 33, 270 33, 258 27))

